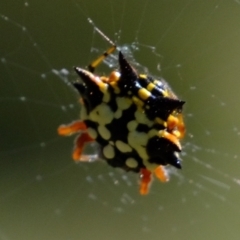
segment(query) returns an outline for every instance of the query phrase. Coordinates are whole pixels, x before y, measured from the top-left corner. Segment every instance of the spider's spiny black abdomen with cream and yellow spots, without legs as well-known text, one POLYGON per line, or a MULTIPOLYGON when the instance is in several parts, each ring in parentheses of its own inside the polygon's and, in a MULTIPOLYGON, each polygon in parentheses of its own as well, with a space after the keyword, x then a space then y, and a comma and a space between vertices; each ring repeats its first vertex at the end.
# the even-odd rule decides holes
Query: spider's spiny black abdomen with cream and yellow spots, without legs
POLYGON ((74 86, 82 97, 89 135, 112 166, 135 172, 167 164, 181 168, 180 144, 168 129, 168 118, 174 113, 177 119, 184 102, 161 80, 138 75, 121 53, 119 65, 114 79, 75 69, 83 80, 74 86))

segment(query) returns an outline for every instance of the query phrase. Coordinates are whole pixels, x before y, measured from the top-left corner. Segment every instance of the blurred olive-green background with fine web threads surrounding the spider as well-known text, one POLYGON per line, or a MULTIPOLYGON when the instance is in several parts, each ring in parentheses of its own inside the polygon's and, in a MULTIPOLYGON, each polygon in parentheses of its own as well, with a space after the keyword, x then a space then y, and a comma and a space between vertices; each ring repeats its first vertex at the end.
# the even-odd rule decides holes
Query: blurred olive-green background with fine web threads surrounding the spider
POLYGON ((239 1, 0 5, 0 239, 239 238, 239 1), (72 66, 109 47, 89 18, 186 101, 183 170, 146 197, 136 174, 75 164, 56 134, 79 116, 72 66))

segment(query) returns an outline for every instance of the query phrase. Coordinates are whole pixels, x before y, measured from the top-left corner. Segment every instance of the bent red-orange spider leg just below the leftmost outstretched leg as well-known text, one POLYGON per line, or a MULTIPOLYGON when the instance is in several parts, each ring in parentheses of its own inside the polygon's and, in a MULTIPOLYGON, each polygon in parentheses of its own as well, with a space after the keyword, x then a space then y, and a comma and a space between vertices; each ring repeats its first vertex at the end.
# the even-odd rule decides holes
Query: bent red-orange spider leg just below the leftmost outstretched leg
POLYGON ((94 141, 94 139, 92 139, 86 132, 80 134, 76 138, 75 147, 72 154, 72 158, 74 161, 81 161, 81 155, 84 148, 84 144, 92 141, 94 141))

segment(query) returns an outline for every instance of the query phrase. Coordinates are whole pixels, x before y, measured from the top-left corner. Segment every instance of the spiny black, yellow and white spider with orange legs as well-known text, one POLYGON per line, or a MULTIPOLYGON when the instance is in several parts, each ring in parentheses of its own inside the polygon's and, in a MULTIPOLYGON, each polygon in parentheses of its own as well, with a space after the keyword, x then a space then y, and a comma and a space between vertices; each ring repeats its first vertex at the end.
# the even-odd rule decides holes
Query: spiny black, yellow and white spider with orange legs
POLYGON ((83 154, 86 143, 96 141, 100 157, 112 167, 140 174, 140 193, 149 192, 152 175, 162 182, 169 180, 167 165, 181 169, 180 139, 185 126, 182 106, 163 79, 138 72, 119 50, 119 69, 107 76, 94 74, 95 68, 117 46, 96 26, 111 47, 93 61, 88 70, 75 67, 81 81, 73 86, 80 94, 80 119, 61 125, 63 136, 77 133, 73 159, 89 161, 83 154))

